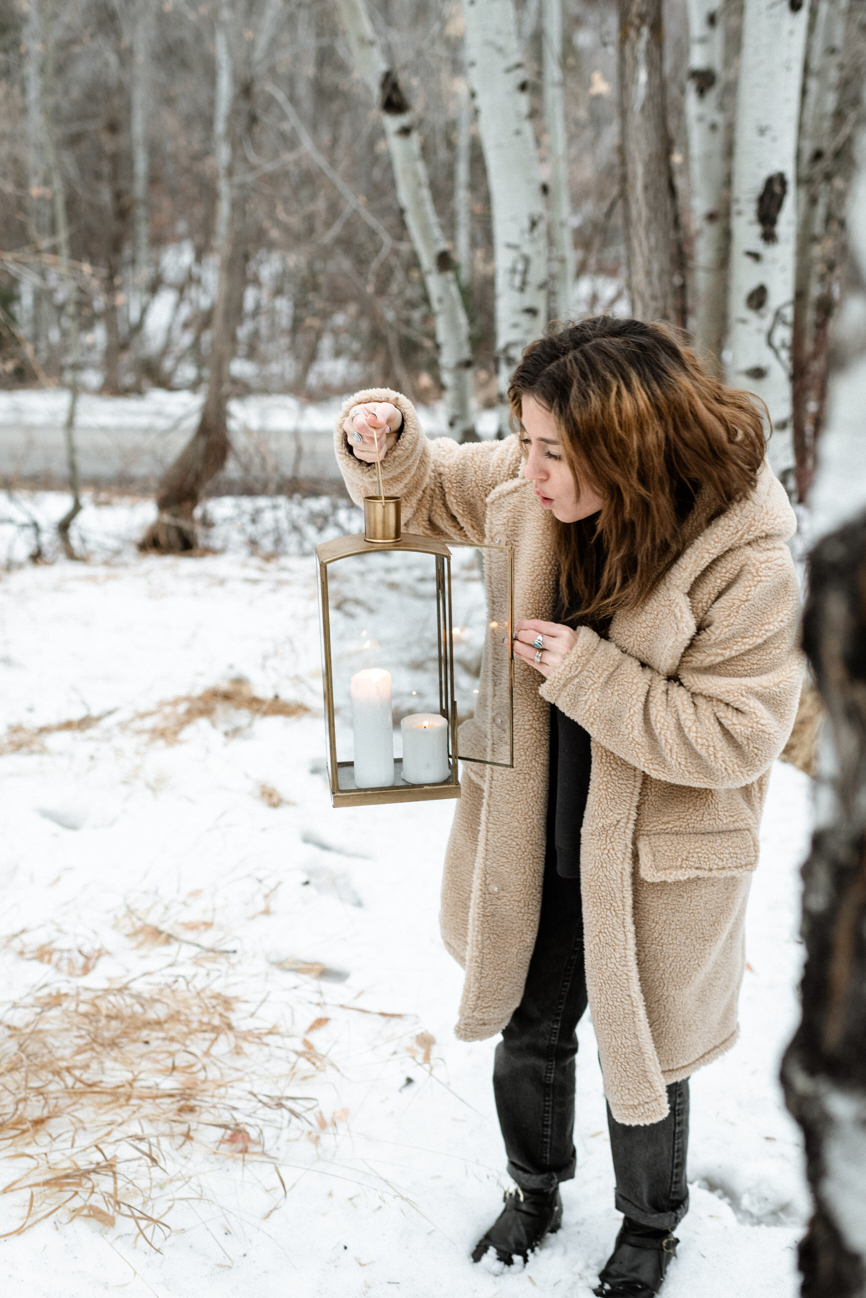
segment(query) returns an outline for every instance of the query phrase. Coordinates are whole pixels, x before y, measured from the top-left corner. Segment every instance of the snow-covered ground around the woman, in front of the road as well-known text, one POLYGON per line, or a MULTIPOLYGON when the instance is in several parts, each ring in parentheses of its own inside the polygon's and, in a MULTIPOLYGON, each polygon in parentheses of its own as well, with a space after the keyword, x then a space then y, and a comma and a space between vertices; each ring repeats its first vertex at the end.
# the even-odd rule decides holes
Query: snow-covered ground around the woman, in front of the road
MULTIPOLYGON (((65 500, 23 506, 45 520, 65 500)), ((227 1124, 205 1120, 186 1142, 166 1128, 152 1146, 158 1167, 140 1202, 170 1228, 149 1232, 156 1249, 121 1211, 113 1225, 113 1212, 68 1220, 78 1201, 9 1233, 29 1199, 0 1194, 4 1295, 53 1298, 62 1277, 66 1298, 587 1298, 619 1220, 591 1023, 563 1229, 526 1269, 474 1267, 506 1180, 495 1042, 452 1035, 461 972, 436 912, 453 803, 330 806, 310 546, 317 526, 352 530, 357 515, 216 501, 222 553, 162 559, 131 545, 149 509, 88 508, 87 563, 18 566, 31 532, 0 526, 3 999, 26 1009, 70 990, 182 988, 223 993, 239 1027, 277 1031, 270 1047, 232 1057, 241 1077, 227 1124), (213 704, 213 687, 226 687, 223 701, 193 719, 188 701, 213 704), (247 696, 300 706, 256 716, 247 696), (53 728, 64 722, 80 728, 53 728), (271 1120, 277 1093, 295 1114, 271 1120)), ((776 766, 743 1037, 693 1081, 692 1207, 667 1298, 798 1292, 809 1208, 776 1073, 797 1014, 809 822, 810 781, 776 766)), ((70 1145, 60 1120, 52 1129, 70 1145)), ((75 1149, 87 1138, 78 1131, 75 1149)), ((0 1188, 31 1166, 0 1159, 0 1188)))

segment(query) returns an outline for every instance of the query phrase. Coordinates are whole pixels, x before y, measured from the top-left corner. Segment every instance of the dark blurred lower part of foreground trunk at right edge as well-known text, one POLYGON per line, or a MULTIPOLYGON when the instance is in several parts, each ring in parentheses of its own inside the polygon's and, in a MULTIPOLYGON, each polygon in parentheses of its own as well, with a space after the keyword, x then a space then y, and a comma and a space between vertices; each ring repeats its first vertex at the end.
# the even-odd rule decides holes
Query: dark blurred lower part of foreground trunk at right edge
POLYGON ((866 1295, 866 514, 810 562, 804 646, 835 749, 832 810, 804 876, 802 1022, 783 1062, 815 1212, 804 1298, 866 1295))

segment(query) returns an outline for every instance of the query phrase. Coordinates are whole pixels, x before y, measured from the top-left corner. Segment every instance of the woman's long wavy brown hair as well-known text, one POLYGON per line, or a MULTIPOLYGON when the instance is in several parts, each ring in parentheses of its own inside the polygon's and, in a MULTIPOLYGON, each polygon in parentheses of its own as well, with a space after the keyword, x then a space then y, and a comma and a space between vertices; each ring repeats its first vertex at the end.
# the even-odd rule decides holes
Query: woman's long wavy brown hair
POLYGON ((604 500, 597 546, 556 522, 560 594, 582 620, 641 604, 683 552, 699 493, 709 522, 749 495, 763 461, 756 398, 708 374, 665 324, 553 326, 523 352, 508 396, 518 424, 525 396, 551 411, 575 483, 604 500))

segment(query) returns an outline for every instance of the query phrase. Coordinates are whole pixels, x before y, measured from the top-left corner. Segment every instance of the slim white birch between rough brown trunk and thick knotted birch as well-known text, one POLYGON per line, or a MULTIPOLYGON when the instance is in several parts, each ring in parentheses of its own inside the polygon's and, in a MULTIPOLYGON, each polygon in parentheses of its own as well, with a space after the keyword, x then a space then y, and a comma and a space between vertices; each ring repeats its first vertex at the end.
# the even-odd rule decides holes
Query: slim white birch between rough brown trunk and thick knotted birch
POLYGON ((728 164, 724 147, 724 14, 718 0, 688 0, 686 127, 692 202, 688 326, 718 358, 724 335, 728 164))

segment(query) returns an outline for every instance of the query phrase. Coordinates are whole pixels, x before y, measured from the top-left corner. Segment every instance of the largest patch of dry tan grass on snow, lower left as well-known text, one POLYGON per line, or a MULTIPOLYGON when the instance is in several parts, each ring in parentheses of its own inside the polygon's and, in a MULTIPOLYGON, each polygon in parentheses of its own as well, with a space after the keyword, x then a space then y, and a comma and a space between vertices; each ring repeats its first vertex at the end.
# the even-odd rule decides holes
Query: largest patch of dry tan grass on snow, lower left
POLYGON ((239 1025, 209 986, 61 985, 12 1006, 0 1025, 0 1157, 26 1169, 0 1193, 21 1205, 17 1234, 48 1216, 112 1227, 130 1219, 157 1247, 182 1198, 201 1197, 192 1151, 266 1158, 267 1133, 310 1129, 312 1099, 287 1094, 309 1041, 239 1025), (269 1093, 251 1089, 267 1076, 269 1093), (277 1067, 275 1067, 277 1064, 277 1067))

